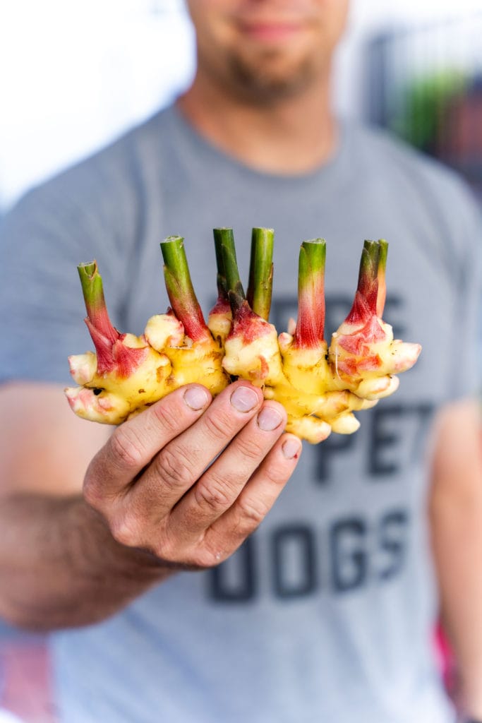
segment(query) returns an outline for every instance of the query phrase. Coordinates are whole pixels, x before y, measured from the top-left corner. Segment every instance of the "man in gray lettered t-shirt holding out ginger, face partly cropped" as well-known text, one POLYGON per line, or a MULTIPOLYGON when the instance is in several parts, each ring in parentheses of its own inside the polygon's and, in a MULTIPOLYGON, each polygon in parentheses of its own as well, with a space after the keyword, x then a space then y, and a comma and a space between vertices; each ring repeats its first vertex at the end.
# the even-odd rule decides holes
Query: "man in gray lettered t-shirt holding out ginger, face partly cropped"
POLYGON ((431 535, 461 701, 482 718, 478 215, 447 171, 332 114, 346 2, 189 9, 198 68, 176 106, 4 223, 0 613, 61 630, 69 723, 444 723, 431 535), (303 239, 327 238, 327 334, 363 239, 390 241, 387 320, 423 352, 356 435, 300 457, 245 382, 214 401, 181 388, 113 434, 69 411, 64 360, 91 346, 75 265, 97 257, 115 325, 139 333, 165 304, 163 236, 185 236, 209 308, 215 226, 245 261, 251 226, 275 228, 279 330, 303 239))

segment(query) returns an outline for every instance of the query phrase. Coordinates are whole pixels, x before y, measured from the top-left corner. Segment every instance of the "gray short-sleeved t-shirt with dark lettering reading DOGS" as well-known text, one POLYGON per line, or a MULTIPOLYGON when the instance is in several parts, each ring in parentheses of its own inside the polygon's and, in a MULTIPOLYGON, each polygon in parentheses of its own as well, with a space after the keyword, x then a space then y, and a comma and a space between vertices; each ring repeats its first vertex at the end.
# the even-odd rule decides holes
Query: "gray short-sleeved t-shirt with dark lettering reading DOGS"
MULTIPOLYGON (((69 382, 92 348, 76 265, 98 260, 115 325, 167 307, 159 241, 186 239, 205 312, 212 228, 275 228, 278 330, 296 317, 304 239, 327 239, 327 335, 348 312, 363 239, 390 242, 385 318, 423 351, 355 435, 304 445, 259 530, 104 623, 52 636, 64 723, 446 723, 426 526, 430 421, 478 390, 480 219, 462 183, 343 122, 322 168, 275 176, 199 137, 173 108, 34 189, 2 227, 0 378, 69 382), (5 311, 6 310, 6 311, 5 311)), ((86 422, 87 424, 87 422, 86 422)), ((102 551, 99 551, 102 554, 102 551)))

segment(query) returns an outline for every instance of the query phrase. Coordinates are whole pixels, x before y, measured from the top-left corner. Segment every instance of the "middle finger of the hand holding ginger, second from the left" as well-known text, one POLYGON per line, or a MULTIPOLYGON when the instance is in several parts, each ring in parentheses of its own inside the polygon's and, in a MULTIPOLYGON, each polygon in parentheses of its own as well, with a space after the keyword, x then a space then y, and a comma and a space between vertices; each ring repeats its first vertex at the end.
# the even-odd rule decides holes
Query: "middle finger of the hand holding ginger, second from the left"
POLYGON ((160 450, 126 495, 126 505, 158 523, 255 416, 262 401, 261 390, 249 382, 230 385, 196 424, 160 450))

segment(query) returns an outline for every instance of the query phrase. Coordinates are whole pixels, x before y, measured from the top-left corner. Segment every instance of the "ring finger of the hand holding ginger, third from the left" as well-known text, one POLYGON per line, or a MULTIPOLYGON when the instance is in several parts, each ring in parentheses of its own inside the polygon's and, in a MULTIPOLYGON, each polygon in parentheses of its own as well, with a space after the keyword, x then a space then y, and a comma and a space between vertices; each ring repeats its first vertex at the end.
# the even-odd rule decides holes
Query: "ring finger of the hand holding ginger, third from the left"
POLYGON ((169 529, 177 537, 199 536, 236 502, 246 482, 283 434, 286 412, 265 402, 256 417, 234 437, 199 482, 173 509, 169 529))

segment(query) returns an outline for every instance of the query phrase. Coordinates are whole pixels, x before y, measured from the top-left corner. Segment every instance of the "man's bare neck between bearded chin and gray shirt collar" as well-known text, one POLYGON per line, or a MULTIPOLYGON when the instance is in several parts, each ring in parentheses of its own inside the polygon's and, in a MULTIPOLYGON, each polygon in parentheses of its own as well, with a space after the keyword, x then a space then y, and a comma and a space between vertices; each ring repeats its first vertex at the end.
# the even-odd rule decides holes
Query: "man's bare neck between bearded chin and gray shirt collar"
POLYGON ((308 173, 326 162, 337 145, 328 82, 261 106, 223 93, 198 74, 178 107, 220 150, 265 173, 308 173))

